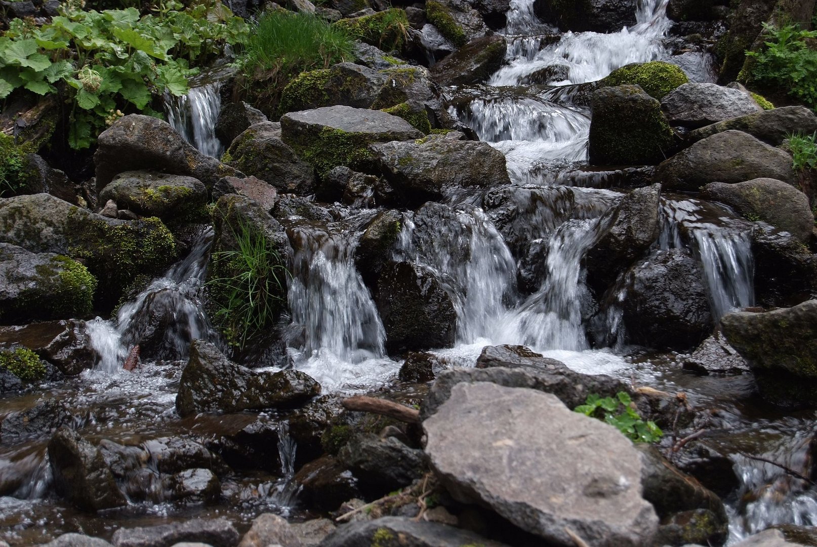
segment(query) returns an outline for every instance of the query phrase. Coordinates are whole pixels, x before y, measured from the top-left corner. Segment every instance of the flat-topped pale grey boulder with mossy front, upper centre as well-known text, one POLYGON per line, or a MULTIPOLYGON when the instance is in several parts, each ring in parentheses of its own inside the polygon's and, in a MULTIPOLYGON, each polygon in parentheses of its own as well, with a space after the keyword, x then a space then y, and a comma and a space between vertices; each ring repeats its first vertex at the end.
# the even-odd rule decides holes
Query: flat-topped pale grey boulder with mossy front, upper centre
POLYGON ((328 173, 338 165, 358 169, 373 159, 373 142, 407 141, 423 137, 407 121, 380 110, 328 106, 290 112, 281 117, 283 141, 297 155, 328 173))

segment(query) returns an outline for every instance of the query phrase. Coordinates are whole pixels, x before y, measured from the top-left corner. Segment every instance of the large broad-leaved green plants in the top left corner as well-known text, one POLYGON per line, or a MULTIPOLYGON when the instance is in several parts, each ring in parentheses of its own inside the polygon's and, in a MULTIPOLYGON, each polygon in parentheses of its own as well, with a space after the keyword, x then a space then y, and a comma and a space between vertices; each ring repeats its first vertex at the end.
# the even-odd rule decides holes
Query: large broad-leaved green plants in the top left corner
POLYGON ((159 116, 150 108, 154 95, 184 95, 194 64, 247 35, 243 20, 218 0, 182 8, 168 0, 157 15, 140 16, 135 7, 82 11, 69 2, 47 25, 11 20, 0 38, 0 98, 67 96, 67 137, 77 150, 92 146, 123 112, 159 116))

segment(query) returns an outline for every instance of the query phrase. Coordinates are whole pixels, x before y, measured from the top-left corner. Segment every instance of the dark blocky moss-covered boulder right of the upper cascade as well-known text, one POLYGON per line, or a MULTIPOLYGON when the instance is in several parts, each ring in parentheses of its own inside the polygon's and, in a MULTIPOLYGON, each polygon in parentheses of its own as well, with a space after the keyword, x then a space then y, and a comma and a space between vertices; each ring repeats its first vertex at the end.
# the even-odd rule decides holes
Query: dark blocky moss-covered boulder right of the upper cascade
POLYGON ((673 146, 675 135, 661 104, 641 87, 602 87, 593 92, 591 164, 657 164, 673 146))

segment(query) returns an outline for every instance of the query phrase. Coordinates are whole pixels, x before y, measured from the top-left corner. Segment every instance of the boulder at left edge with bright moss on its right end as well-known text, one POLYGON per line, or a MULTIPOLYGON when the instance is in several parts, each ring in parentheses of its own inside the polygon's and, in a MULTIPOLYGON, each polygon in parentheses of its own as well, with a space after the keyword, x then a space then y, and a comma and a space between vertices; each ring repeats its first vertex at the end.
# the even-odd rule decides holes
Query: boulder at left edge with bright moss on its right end
POLYGON ((85 316, 95 290, 96 277, 71 258, 0 243, 2 324, 85 316))

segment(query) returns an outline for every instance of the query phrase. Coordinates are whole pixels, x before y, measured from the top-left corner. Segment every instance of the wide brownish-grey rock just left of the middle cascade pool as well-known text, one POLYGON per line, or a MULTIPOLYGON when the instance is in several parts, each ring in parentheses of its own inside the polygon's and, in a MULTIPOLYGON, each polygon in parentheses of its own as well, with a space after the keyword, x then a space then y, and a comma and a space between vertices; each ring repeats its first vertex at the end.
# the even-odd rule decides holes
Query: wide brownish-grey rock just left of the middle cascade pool
POLYGON ((403 204, 441 201, 463 188, 509 184, 505 156, 486 142, 386 142, 372 147, 377 164, 403 204))

